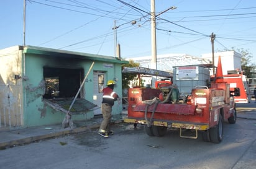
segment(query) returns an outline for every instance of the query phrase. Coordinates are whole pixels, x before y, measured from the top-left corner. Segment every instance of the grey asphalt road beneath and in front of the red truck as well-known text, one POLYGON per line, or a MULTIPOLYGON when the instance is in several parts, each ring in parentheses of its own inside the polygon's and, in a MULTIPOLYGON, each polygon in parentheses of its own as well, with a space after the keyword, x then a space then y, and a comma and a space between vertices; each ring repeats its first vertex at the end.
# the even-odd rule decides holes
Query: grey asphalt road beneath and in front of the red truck
POLYGON ((255 105, 237 105, 237 123, 224 124, 220 144, 180 138, 173 130, 150 137, 142 125, 121 123, 108 139, 92 130, 0 150, 0 168, 255 168, 255 105))

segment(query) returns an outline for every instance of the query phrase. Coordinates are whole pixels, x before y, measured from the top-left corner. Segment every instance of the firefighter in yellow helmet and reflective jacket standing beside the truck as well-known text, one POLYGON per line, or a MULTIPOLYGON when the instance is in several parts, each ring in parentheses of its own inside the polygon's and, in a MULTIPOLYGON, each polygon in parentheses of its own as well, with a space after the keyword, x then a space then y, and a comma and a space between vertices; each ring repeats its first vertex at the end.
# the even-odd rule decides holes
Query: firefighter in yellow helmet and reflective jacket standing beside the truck
POLYGON ((107 87, 103 89, 103 101, 101 103, 101 112, 103 113, 103 121, 99 127, 99 135, 109 137, 113 132, 110 130, 111 112, 114 102, 119 96, 114 92, 114 80, 107 81, 107 87))

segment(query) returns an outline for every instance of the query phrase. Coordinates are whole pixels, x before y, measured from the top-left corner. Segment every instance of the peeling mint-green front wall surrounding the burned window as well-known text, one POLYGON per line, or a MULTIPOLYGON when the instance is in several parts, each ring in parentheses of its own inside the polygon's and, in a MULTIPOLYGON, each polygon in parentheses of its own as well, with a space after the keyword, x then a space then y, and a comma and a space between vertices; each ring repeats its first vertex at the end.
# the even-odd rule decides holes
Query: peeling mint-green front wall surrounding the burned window
MULTIPOLYGON (((42 102, 45 92, 43 83, 43 66, 84 69, 85 75, 93 61, 86 59, 61 58, 56 56, 45 56, 40 54, 25 54, 25 77, 24 80, 24 121, 25 126, 42 126, 47 124, 61 124, 65 118, 65 113, 53 110, 50 106, 42 102)), ((89 72, 88 80, 85 82, 85 98, 93 102, 93 71, 106 71, 106 79, 116 77, 117 87, 114 89, 122 97, 121 64, 95 61, 93 69, 89 72), (103 64, 113 64, 114 67, 104 67, 103 64)), ((113 115, 122 112, 122 105, 116 103, 113 106, 113 115)), ((93 118, 93 111, 86 114, 74 115, 73 120, 86 120, 93 118)))

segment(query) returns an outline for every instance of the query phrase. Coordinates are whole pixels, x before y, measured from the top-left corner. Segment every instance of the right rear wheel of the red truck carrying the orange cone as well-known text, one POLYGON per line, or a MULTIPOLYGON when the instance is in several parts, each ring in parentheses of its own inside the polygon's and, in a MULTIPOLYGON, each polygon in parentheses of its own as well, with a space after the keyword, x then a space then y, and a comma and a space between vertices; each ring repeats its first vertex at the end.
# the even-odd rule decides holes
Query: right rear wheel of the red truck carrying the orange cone
POLYGON ((209 129, 211 142, 219 143, 223 138, 223 118, 222 115, 219 114, 219 123, 213 128, 209 129))

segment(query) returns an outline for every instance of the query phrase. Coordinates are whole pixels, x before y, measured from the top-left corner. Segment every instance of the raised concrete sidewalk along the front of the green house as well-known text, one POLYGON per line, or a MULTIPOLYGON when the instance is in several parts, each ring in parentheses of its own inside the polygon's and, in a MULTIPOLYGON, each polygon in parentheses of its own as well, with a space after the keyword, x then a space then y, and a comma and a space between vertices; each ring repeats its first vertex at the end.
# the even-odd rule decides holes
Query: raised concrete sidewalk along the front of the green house
MULTIPOLYGON (((121 123, 126 114, 112 116, 111 123, 121 123)), ((74 134, 78 132, 88 131, 90 129, 99 128, 102 116, 89 119, 87 121, 73 121, 74 128, 62 128, 62 124, 38 126, 34 128, 14 129, 0 131, 0 150, 7 147, 15 147, 16 145, 30 144, 31 142, 49 139, 52 137, 65 136, 66 134, 74 134)))

